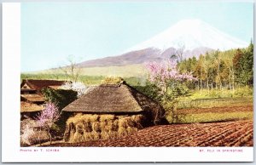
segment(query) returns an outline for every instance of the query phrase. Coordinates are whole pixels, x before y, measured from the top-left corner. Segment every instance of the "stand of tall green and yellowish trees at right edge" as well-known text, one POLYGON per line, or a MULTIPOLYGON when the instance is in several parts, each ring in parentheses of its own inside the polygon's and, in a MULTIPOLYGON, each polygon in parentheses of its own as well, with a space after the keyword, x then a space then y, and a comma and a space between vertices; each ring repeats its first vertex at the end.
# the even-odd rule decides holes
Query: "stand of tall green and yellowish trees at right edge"
POLYGON ((212 51, 182 60, 179 71, 191 72, 198 81, 189 84, 192 88, 234 90, 242 86, 253 86, 253 42, 247 48, 227 51, 212 51))

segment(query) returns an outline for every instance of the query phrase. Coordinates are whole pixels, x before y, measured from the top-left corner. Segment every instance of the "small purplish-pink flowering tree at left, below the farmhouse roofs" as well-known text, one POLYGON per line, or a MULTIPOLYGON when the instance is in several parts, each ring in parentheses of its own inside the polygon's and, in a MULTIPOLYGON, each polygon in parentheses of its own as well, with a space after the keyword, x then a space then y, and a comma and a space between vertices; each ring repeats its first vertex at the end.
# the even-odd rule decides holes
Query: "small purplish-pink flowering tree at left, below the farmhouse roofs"
POLYGON ((47 103, 44 110, 38 116, 37 123, 40 131, 44 128, 49 134, 49 143, 51 144, 52 135, 50 134, 51 126, 60 118, 58 107, 53 103, 47 103))

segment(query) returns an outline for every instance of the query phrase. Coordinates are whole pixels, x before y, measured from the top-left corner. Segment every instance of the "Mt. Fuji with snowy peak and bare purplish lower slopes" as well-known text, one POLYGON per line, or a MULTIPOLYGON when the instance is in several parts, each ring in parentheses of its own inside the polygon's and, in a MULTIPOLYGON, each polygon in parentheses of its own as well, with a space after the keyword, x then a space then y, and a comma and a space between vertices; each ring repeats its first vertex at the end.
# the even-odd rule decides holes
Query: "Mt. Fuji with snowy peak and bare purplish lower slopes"
POLYGON ((201 20, 181 20, 166 31, 124 51, 124 54, 79 63, 80 67, 133 65, 170 58, 183 50, 183 58, 198 57, 212 50, 245 48, 248 43, 231 37, 201 20))

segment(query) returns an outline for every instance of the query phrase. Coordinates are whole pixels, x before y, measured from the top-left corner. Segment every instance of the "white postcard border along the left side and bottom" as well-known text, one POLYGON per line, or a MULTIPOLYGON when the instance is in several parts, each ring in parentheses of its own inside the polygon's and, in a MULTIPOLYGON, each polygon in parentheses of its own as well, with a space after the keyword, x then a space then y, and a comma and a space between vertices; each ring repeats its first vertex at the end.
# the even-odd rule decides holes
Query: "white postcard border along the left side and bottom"
POLYGON ((20 3, 3 3, 2 89, 3 162, 253 162, 253 147, 20 147, 20 3))

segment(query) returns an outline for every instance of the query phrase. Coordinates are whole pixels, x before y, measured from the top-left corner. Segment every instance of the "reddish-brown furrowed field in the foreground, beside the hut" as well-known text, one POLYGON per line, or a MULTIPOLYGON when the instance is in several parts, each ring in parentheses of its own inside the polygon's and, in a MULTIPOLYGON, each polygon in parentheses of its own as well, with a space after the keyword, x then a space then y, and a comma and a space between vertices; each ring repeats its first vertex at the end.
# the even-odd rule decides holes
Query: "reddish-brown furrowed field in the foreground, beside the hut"
POLYGON ((50 146, 253 146, 253 121, 161 125, 119 139, 50 146))

